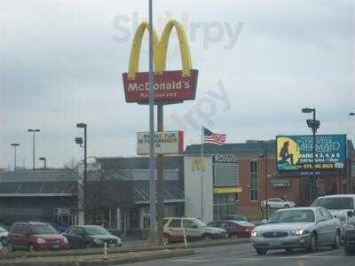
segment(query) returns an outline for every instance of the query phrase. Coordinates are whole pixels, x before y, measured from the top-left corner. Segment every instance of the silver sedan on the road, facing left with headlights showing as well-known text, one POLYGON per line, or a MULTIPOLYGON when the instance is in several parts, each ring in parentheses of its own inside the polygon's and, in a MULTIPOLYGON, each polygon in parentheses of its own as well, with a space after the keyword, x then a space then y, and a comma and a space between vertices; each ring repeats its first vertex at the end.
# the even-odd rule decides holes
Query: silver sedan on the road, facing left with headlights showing
POLYGON ((251 241, 257 254, 270 249, 306 248, 317 246, 339 248, 340 222, 324 207, 296 207, 276 211, 270 220, 251 232, 251 241))

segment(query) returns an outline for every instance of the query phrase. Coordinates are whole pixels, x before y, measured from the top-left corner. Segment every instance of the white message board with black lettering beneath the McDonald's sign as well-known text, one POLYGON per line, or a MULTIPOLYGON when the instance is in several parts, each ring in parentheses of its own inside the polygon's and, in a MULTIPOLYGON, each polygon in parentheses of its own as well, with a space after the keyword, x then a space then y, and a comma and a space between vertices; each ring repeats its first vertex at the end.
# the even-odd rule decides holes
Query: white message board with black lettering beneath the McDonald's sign
MULTIPOLYGON (((184 153, 184 132, 163 131, 155 132, 155 154, 181 154, 184 153)), ((137 154, 150 154, 149 132, 137 133, 137 154)))

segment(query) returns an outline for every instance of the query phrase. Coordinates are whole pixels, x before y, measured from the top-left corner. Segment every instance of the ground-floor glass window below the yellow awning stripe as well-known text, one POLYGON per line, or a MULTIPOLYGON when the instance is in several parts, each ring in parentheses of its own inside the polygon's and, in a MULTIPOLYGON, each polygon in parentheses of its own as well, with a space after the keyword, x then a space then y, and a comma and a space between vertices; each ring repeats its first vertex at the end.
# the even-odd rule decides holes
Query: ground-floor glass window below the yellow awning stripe
POLYGON ((238 193, 213 194, 213 221, 234 215, 238 193))

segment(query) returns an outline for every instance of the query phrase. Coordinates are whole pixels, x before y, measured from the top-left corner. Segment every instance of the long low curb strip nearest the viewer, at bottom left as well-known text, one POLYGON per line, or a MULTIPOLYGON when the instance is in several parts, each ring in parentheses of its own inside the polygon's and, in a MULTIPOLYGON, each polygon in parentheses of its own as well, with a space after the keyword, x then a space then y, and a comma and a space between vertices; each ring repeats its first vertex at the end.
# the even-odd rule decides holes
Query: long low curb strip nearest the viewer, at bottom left
POLYGON ((34 261, 34 262, 21 262, 21 261, 8 261, 8 262, 1 262, 2 266, 101 266, 101 265, 113 265, 113 264, 123 264, 123 263, 130 263, 130 262, 147 262, 157 259, 167 259, 171 257, 180 257, 185 255, 194 254, 192 249, 185 249, 185 250, 175 250, 175 251, 162 251, 158 254, 130 254, 126 255, 123 258, 108 258, 104 260, 103 258, 98 259, 89 259, 90 261, 72 259, 66 261, 51 261, 51 262, 41 262, 41 261, 34 261))

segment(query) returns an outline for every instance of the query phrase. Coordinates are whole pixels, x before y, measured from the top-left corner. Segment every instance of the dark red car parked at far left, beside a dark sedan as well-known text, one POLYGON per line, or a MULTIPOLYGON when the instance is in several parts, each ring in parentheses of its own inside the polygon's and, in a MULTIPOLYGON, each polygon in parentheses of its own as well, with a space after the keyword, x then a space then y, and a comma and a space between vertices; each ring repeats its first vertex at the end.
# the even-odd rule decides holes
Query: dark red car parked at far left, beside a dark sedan
POLYGON ((67 238, 46 223, 13 223, 8 239, 12 251, 68 248, 67 238))

